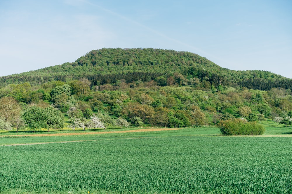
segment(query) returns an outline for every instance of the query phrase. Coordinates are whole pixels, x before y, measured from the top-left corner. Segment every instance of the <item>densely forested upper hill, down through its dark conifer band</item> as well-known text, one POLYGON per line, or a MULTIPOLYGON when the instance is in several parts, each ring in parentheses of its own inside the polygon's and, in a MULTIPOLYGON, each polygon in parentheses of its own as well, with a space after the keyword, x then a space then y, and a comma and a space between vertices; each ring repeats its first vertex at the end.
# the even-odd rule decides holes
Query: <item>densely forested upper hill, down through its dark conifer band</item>
POLYGON ((0 77, 0 86, 25 82, 39 85, 81 78, 87 78, 92 85, 113 84, 119 80, 126 83, 155 80, 164 85, 166 79, 173 76, 180 85, 189 85, 197 79, 215 87, 222 84, 259 90, 292 89, 291 79, 271 72, 228 70, 197 54, 151 48, 93 50, 73 63, 0 77))

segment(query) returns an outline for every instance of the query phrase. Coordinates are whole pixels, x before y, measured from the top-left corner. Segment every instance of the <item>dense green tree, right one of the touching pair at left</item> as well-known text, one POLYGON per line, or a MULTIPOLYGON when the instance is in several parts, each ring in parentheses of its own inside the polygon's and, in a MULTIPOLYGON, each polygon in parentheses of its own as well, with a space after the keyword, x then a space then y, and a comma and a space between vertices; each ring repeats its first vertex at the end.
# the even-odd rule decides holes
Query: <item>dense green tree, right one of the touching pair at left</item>
POLYGON ((53 106, 48 106, 45 108, 45 111, 48 132, 50 132, 50 128, 62 129, 64 127, 63 115, 58 109, 54 108, 53 106))

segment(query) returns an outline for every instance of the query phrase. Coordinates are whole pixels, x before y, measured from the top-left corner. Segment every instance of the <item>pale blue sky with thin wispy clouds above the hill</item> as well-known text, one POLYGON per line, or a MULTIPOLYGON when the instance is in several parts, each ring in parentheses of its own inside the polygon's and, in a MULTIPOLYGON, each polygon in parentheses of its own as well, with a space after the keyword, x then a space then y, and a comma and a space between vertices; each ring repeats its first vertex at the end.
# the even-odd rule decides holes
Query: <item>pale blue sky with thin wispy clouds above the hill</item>
POLYGON ((189 51, 292 78, 291 0, 1 0, 0 76, 93 49, 189 51))

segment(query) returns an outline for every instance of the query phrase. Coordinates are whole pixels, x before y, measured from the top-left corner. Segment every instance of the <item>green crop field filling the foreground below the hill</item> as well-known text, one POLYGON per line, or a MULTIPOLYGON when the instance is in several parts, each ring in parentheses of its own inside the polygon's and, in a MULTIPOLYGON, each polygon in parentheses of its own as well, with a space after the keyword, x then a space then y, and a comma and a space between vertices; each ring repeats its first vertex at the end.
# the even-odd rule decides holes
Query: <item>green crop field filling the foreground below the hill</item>
POLYGON ((2 137, 0 193, 292 193, 291 137, 218 134, 2 137))

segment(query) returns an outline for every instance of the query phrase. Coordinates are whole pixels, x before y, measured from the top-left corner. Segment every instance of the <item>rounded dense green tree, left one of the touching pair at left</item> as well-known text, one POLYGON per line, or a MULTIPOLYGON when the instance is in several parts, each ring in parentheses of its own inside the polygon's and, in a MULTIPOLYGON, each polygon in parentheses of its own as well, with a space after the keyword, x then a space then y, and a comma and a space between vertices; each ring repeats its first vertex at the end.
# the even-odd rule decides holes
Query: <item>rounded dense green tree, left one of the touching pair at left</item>
POLYGON ((31 106, 21 115, 25 124, 35 132, 37 129, 48 129, 47 115, 43 108, 31 106))

